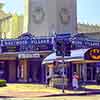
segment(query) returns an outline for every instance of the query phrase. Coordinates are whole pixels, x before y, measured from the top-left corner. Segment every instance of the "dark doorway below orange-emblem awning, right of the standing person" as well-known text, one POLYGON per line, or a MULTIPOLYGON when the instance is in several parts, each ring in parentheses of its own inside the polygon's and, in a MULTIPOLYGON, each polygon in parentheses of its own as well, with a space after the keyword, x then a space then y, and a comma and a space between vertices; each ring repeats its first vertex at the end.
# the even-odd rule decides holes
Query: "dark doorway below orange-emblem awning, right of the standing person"
POLYGON ((96 65, 95 63, 87 64, 87 81, 95 81, 96 78, 96 65))

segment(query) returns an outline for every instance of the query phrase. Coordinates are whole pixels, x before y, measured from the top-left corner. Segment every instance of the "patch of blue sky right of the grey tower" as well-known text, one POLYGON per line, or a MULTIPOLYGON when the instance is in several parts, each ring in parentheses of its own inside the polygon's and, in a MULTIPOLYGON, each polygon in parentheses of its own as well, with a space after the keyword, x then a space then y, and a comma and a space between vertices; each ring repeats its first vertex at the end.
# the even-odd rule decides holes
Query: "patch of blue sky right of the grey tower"
POLYGON ((100 0, 77 0, 78 20, 100 24, 100 0))

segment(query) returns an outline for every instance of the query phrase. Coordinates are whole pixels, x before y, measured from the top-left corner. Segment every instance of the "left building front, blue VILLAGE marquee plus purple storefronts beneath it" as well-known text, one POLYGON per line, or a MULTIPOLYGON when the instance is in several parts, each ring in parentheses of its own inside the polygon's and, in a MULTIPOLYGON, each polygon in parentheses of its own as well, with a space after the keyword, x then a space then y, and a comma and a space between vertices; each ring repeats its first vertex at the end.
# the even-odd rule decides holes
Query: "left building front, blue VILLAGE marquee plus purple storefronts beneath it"
POLYGON ((0 79, 43 83, 45 69, 41 63, 52 48, 50 37, 36 38, 31 34, 0 40, 0 79))

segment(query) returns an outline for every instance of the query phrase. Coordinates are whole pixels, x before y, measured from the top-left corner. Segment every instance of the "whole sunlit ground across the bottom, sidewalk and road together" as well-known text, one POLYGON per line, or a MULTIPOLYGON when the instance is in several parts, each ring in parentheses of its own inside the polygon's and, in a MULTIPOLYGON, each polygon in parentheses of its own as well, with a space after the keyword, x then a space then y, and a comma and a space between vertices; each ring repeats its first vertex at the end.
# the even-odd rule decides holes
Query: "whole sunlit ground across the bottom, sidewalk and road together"
POLYGON ((0 100, 100 100, 100 86, 82 86, 87 90, 65 90, 41 84, 7 84, 0 87, 0 100))

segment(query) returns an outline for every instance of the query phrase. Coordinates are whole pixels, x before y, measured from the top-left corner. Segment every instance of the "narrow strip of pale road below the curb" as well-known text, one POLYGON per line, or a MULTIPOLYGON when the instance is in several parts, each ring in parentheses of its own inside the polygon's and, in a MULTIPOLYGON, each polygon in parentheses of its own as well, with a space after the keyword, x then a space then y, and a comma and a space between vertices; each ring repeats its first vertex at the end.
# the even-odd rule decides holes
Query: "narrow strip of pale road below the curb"
POLYGON ((100 100, 100 95, 38 97, 38 98, 0 98, 0 100, 100 100))

